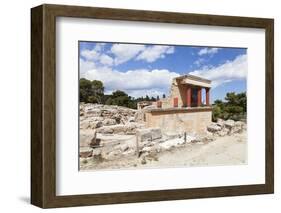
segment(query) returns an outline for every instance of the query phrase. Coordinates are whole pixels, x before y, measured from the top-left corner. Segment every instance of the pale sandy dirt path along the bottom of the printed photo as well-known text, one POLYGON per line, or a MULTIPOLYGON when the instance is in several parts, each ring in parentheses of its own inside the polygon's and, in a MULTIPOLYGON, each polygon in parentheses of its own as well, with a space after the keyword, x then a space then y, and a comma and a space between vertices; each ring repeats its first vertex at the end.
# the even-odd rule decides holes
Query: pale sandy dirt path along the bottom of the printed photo
POLYGON ((137 158, 81 163, 81 170, 183 166, 218 166, 247 163, 247 132, 219 137, 209 143, 188 143, 164 152, 137 158))

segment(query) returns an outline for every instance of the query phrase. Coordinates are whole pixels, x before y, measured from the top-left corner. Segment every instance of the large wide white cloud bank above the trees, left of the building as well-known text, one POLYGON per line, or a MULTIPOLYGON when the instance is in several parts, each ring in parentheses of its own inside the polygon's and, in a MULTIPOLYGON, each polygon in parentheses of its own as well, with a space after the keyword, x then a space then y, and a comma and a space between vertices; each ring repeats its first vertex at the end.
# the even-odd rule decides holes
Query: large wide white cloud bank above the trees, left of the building
POLYGON ((104 83, 107 92, 124 90, 133 97, 145 95, 167 95, 171 80, 179 76, 178 73, 166 69, 158 70, 129 70, 120 72, 109 67, 88 70, 81 74, 89 80, 100 80, 104 83))

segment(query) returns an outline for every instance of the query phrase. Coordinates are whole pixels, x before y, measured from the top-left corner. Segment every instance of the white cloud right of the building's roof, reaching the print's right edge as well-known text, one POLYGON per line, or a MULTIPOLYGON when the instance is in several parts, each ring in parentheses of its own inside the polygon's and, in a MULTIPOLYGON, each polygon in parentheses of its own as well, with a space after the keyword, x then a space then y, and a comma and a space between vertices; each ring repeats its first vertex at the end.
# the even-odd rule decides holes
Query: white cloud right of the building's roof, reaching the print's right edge
POLYGON ((218 67, 204 67, 189 74, 210 79, 212 87, 217 87, 234 80, 246 79, 247 70, 247 55, 239 55, 233 61, 226 61, 218 67))

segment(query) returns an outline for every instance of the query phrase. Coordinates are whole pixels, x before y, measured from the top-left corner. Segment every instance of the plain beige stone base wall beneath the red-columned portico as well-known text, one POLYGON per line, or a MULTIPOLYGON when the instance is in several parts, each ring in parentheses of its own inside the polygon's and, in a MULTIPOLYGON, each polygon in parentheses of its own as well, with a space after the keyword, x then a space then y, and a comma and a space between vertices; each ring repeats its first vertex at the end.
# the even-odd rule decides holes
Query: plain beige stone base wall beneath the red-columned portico
POLYGON ((159 127, 164 132, 199 133, 212 122, 211 107, 152 109, 145 113, 147 128, 159 127))

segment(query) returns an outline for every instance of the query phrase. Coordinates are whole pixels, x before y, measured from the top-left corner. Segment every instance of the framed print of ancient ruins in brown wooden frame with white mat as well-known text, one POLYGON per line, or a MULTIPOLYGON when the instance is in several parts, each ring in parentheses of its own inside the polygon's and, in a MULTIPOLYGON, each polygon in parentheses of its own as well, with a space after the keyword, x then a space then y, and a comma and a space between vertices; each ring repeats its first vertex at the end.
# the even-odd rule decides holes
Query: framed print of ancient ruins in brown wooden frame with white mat
POLYGON ((272 19, 31 9, 31 203, 274 191, 272 19))

